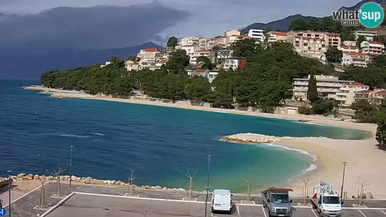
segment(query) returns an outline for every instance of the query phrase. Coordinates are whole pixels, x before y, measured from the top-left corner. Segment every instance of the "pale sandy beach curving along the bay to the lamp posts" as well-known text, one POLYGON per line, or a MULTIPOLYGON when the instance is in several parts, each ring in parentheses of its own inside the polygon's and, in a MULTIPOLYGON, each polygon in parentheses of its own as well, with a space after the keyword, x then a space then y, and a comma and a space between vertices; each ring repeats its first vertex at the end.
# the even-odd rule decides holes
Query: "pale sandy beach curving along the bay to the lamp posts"
MULTIPOLYGON (((49 90, 48 88, 37 87, 33 90, 49 90)), ((52 90, 52 89, 51 89, 52 90)), ((63 95, 64 93, 60 93, 63 95)), ((342 185, 342 173, 343 173, 343 161, 347 162, 345 170, 345 183, 344 191, 347 191, 347 197, 351 198, 352 195, 357 195, 359 185, 356 182, 361 179, 367 180, 367 183, 371 183, 369 186, 365 186, 365 193, 371 192, 374 198, 386 199, 386 188, 384 184, 383 171, 386 170, 386 153, 378 149, 376 146, 377 141, 375 140, 376 124, 361 124, 355 122, 344 122, 324 117, 316 117, 310 115, 298 115, 298 116, 287 116, 279 114, 266 114, 258 112, 247 112, 240 110, 229 110, 221 108, 210 108, 210 107, 199 107, 191 105, 177 105, 171 103, 162 102, 149 102, 143 100, 127 100, 119 98, 108 98, 108 97, 97 97, 86 94, 75 94, 65 93, 68 97, 74 98, 85 98, 93 100, 108 100, 115 102, 127 102, 127 103, 138 103, 146 105, 157 105, 166 107, 176 107, 185 109, 204 110, 210 112, 223 112, 232 114, 262 116, 262 117, 273 117, 293 120, 308 120, 308 123, 313 124, 324 124, 332 125, 336 127, 344 127, 347 129, 359 129, 367 131, 369 138, 365 140, 339 140, 339 139, 328 139, 328 138, 315 138, 315 137, 303 137, 303 138, 286 138, 283 137, 281 141, 275 142, 288 147, 294 147, 302 149, 308 153, 312 153, 317 156, 315 164, 317 169, 307 173, 305 176, 310 175, 309 196, 312 195, 312 188, 317 186, 318 180, 324 180, 331 182, 335 191, 340 194, 340 186, 342 185), (374 164, 377 162, 377 164, 374 164)), ((228 135, 224 135, 228 136, 228 135)), ((295 192, 294 196, 302 195, 302 187, 304 186, 303 181, 298 180, 293 184, 295 192)))

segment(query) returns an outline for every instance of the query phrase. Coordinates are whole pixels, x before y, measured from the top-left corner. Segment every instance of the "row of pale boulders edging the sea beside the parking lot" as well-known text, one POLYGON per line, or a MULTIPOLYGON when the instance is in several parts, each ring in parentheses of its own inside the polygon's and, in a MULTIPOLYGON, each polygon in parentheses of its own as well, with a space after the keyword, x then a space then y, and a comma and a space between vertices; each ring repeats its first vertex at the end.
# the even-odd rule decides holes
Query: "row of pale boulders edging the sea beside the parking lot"
MULTIPOLYGON (((12 182, 19 182, 19 181, 29 181, 29 180, 47 180, 47 181, 53 181, 59 180, 61 181, 71 181, 73 182, 79 182, 79 183, 85 183, 85 184, 95 184, 95 185, 113 185, 113 186, 130 186, 129 183, 125 183, 121 180, 98 180, 91 177, 76 177, 76 176, 46 176, 46 175, 33 175, 33 174, 26 174, 26 173, 20 173, 15 176, 10 176, 12 182)), ((8 180, 8 177, 3 178, 0 177, 0 183, 2 181, 8 180)), ((157 190, 171 190, 171 191, 186 191, 183 188, 167 188, 167 187, 161 187, 159 185, 157 186, 149 186, 149 185, 142 185, 137 186, 136 188, 142 188, 142 189, 157 189, 157 190)))

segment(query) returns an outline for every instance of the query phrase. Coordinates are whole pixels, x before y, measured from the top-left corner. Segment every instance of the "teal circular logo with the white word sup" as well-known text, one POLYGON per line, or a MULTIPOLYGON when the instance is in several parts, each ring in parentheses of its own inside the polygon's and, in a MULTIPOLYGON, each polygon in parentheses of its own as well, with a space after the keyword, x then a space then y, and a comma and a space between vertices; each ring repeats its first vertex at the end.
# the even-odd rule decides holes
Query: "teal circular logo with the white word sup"
POLYGON ((366 27, 376 27, 383 20, 383 10, 376 3, 369 2, 362 5, 359 11, 359 20, 366 27))

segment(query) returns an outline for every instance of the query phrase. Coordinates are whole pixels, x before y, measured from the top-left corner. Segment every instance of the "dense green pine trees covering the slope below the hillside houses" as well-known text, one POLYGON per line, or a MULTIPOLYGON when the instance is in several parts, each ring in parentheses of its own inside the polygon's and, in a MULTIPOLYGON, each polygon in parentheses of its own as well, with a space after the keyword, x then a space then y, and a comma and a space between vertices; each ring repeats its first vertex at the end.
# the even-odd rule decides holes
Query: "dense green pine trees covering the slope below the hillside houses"
MULTIPOLYGON (((51 70, 42 73, 41 82, 52 88, 85 90, 91 94, 129 95, 130 91, 143 90, 150 97, 173 100, 202 100, 230 107, 233 103, 256 106, 267 110, 280 105, 291 96, 292 78, 315 74, 334 73, 315 59, 300 57, 289 43, 276 42, 263 49, 253 40, 240 40, 235 44, 238 56, 248 57, 243 69, 220 70, 210 84, 205 77, 187 75, 189 63, 186 52, 178 50, 161 69, 130 71, 124 61, 112 57, 111 64, 79 67, 72 70, 51 70), (254 41, 253 41, 254 42, 254 41)), ((204 66, 205 68, 205 62, 204 66)))

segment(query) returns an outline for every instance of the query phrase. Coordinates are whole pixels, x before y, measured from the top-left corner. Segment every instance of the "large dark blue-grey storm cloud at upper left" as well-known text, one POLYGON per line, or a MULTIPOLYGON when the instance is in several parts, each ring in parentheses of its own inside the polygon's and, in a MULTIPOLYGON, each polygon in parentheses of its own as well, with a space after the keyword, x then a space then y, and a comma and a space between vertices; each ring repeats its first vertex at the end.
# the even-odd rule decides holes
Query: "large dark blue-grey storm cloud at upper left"
POLYGON ((152 2, 131 6, 57 7, 0 15, 0 53, 47 53, 132 46, 159 38, 189 13, 152 2))

